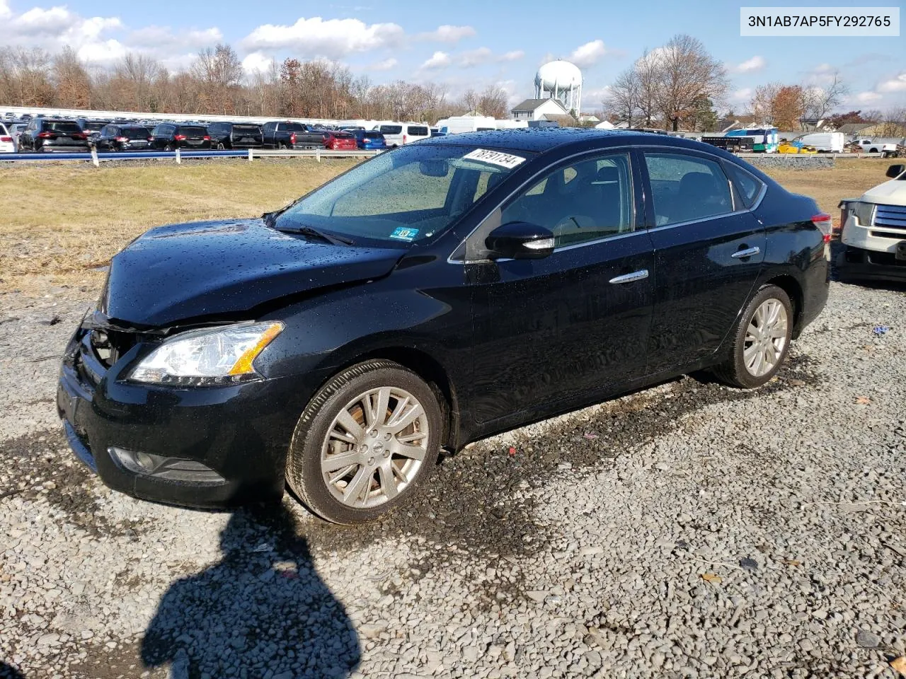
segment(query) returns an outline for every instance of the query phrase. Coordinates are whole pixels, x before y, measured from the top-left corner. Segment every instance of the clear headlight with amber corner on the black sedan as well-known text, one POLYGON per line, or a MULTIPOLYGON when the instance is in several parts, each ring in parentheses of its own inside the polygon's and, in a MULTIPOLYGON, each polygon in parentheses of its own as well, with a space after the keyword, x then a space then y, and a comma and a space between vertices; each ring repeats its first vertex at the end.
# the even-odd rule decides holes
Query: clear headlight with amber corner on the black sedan
POLYGON ((192 330, 168 339, 129 375, 136 382, 224 385, 255 378, 252 362, 284 329, 283 323, 237 323, 192 330))

